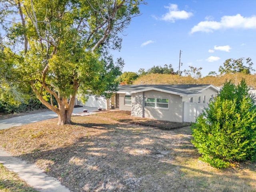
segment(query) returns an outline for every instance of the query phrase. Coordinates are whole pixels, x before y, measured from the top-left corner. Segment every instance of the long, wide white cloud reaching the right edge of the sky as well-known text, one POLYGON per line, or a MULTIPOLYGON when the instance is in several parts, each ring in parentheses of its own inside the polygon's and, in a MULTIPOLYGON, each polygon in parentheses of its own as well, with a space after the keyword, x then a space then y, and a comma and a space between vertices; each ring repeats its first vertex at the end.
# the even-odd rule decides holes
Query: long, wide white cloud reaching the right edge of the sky
POLYGON ((256 29, 256 16, 243 17, 237 14, 234 16, 223 16, 220 22, 209 20, 201 21, 191 29, 190 33, 199 31, 213 32, 214 30, 228 28, 256 29))

